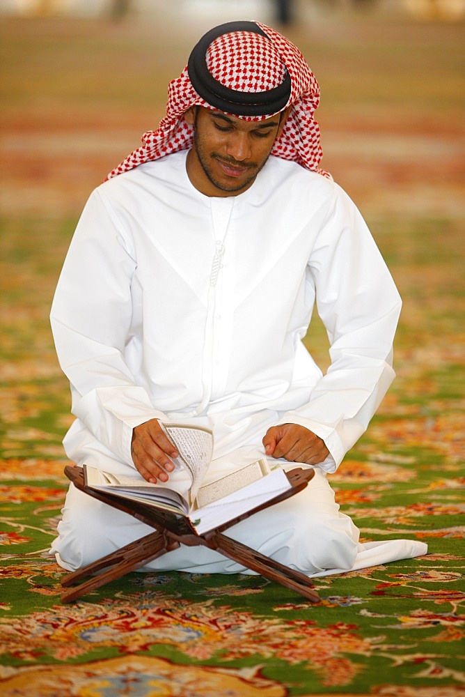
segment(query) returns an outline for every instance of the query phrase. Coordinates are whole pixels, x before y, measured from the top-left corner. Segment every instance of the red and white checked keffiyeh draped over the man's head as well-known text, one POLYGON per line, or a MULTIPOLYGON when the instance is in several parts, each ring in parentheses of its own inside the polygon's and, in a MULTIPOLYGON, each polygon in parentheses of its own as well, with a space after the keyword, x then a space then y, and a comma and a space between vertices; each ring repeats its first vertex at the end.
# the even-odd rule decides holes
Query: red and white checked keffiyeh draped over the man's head
MULTIPOLYGON (((206 53, 210 75, 228 89, 243 93, 263 93, 281 85, 288 73, 290 97, 279 111, 289 105, 292 108, 281 137, 274 142, 271 155, 292 160, 306 169, 329 176, 319 167, 322 158, 320 128, 313 114, 320 102, 320 87, 315 75, 299 49, 287 38, 265 24, 254 24, 266 36, 252 31, 230 31, 210 43, 206 53)), ((107 178, 133 169, 143 162, 191 148, 194 128, 184 120, 183 114, 194 105, 217 109, 196 92, 186 66, 180 77, 168 86, 166 116, 161 120, 159 128, 145 132, 142 146, 130 153, 107 178)), ((233 111, 226 113, 237 115, 233 111)), ((273 115, 239 118, 262 121, 273 115)))

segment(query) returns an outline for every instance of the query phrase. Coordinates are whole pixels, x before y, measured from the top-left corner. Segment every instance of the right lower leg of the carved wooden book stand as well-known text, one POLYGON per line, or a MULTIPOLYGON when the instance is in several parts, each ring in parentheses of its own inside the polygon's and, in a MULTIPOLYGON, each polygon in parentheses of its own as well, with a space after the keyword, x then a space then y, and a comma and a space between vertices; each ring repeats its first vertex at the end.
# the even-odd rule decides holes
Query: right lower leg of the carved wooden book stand
POLYGON ((298 592, 313 603, 320 602, 319 595, 312 588, 312 583, 305 574, 290 569, 290 567, 280 564, 274 559, 222 533, 214 533, 205 542, 207 546, 241 563, 248 569, 258 572, 261 576, 265 576, 266 579, 281 583, 281 585, 298 592))

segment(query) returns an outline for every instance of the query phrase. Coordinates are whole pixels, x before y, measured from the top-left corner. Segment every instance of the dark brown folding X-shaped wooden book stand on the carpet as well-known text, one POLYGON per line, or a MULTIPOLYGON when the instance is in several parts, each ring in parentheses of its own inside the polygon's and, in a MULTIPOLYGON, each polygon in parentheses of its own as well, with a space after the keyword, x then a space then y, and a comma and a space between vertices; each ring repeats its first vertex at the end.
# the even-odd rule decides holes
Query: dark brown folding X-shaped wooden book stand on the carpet
POLYGON ((102 557, 102 559, 92 562, 86 567, 65 576, 61 581, 61 585, 63 585, 64 588, 68 588, 68 586, 72 586, 74 583, 79 583, 79 585, 74 585, 72 588, 65 590, 63 595, 61 595, 61 601, 63 603, 72 602, 81 597, 81 595, 84 595, 84 593, 95 590, 95 588, 100 588, 100 586, 105 583, 119 579, 129 572, 143 567, 166 552, 177 549, 180 544, 186 544, 187 546, 202 545, 210 547, 210 549, 215 549, 224 556, 265 576, 266 579, 277 581, 286 588, 300 593, 300 595, 303 595, 311 602, 320 602, 320 597, 317 592, 313 590, 312 583, 305 574, 294 571, 294 569, 290 569, 270 559, 260 552, 242 544, 242 542, 237 542, 235 539, 223 535, 223 530, 227 530, 227 528, 235 525, 235 523, 239 523, 239 521, 248 518, 257 511, 274 505, 285 498, 294 496, 295 493, 307 486, 313 474, 313 469, 303 468, 295 468, 287 472, 287 478, 292 484, 292 489, 275 496, 267 503, 254 508, 242 516, 228 521, 228 523, 225 523, 219 528, 210 530, 210 532, 203 535, 197 535, 189 528, 187 519, 184 519, 182 516, 176 516, 171 512, 160 510, 143 503, 127 501, 107 491, 95 491, 95 489, 90 489, 84 482, 83 468, 70 465, 66 466, 65 475, 72 481, 77 489, 88 493, 89 496, 93 496, 114 508, 129 513, 139 521, 155 528, 155 532, 145 535, 145 537, 141 537, 141 539, 137 539, 135 542, 125 545, 121 549, 118 549, 118 551, 108 554, 102 557), (97 574, 97 572, 102 573, 97 574), (93 576, 92 574, 97 575, 93 576), (87 576, 90 576, 90 579, 83 581, 87 576))

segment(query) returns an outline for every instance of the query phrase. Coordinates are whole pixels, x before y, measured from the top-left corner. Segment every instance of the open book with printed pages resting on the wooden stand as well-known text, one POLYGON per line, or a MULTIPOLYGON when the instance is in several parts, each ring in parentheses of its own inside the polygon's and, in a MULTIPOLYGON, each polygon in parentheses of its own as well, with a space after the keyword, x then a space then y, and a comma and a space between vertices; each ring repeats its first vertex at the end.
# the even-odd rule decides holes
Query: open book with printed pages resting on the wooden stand
POLYGON ((292 488, 281 467, 270 468, 265 458, 204 482, 212 459, 212 431, 190 424, 161 427, 179 452, 179 457, 173 459, 175 470, 169 473, 168 482, 152 484, 139 474, 123 477, 84 465, 86 485, 183 516, 198 535, 292 488))

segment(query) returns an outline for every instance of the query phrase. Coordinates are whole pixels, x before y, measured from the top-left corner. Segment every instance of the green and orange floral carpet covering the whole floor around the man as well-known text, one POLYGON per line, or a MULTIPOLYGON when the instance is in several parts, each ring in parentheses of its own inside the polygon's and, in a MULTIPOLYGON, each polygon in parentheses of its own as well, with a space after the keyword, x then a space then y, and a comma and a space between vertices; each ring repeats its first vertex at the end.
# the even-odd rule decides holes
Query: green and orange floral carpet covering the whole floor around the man
MULTIPOLYGON (((121 107, 121 122, 116 123, 111 112, 109 130, 102 128, 101 101, 114 104, 116 95, 111 90, 97 95, 96 84, 89 82, 93 71, 102 70, 102 63, 94 63, 97 48, 103 52, 100 61, 118 61, 119 56, 124 93, 129 83, 123 62, 132 56, 143 76, 141 56, 143 50, 148 54, 149 44, 152 47, 146 26, 129 26, 124 32, 100 27, 97 36, 86 22, 44 22, 42 33, 33 22, 7 22, 3 51, 10 80, 3 118, 10 178, 3 186, 0 237, 2 696, 464 694, 465 211, 457 195, 463 194, 463 112, 460 119, 455 97, 458 57, 463 56, 459 46, 464 44, 456 26, 416 27, 413 36, 404 26, 371 24, 369 29, 336 27, 337 36, 322 36, 311 47, 309 43, 308 53, 311 48, 323 69, 322 43, 333 40, 339 54, 336 49, 331 54, 329 75, 336 68, 349 70, 347 56, 352 56, 355 72, 368 71, 367 84, 376 92, 369 71, 379 73, 384 42, 395 40, 394 61, 400 61, 402 47, 407 50, 413 42, 418 62, 395 108, 399 115, 404 107, 404 144, 418 146, 419 133, 425 137, 423 144, 429 143, 424 154, 429 169, 427 174, 420 171, 418 155, 417 168, 409 168, 407 174, 402 158, 408 153, 402 151, 402 161, 393 158, 379 104, 373 105, 372 122, 365 117, 361 124, 377 138, 375 167, 361 146, 365 136, 354 125, 360 102, 349 102, 347 93, 342 94, 347 142, 356 144, 362 162, 358 167, 365 167, 368 175, 361 185, 347 148, 336 152, 330 147, 329 163, 339 167, 338 178, 347 181, 368 211, 370 227, 404 298, 404 310, 395 348, 397 379, 367 434, 331 476, 331 483, 342 510, 361 529, 363 542, 420 539, 427 542, 429 553, 315 579, 318 605, 260 576, 177 572, 131 573, 65 605, 60 600, 63 572, 48 549, 67 486, 61 438, 70 424, 69 394, 47 315, 84 189, 90 187, 90 179, 98 181, 111 168, 104 157, 112 166, 125 154, 105 148, 112 133, 116 138, 136 120, 121 107), (354 33, 356 54, 349 50, 354 33), (26 74, 24 56, 31 45, 35 60, 26 74), (71 92, 65 80, 74 66, 73 52, 79 54, 88 79, 86 89, 95 89, 90 96, 79 81, 71 92), (443 123, 434 130, 431 75, 418 86, 420 67, 432 69, 438 61, 453 82, 450 91, 443 84, 440 88, 450 129, 446 134, 443 123), (58 117, 61 102, 65 113, 58 117), (33 119, 28 109, 33 109, 33 119), (79 129, 91 131, 91 140, 92 133, 100 134, 104 152, 96 160, 90 158, 94 148, 79 137, 81 159, 72 150, 79 129), (56 140, 50 139, 51 133, 56 140), (453 147, 447 149, 448 143, 453 147), (31 153, 33 159, 28 160, 31 153)), ((358 72, 352 76, 357 89, 359 78, 358 72)), ((330 102, 336 87, 329 84, 330 102)), ((366 93, 360 98, 366 100, 366 93)), ((138 103, 133 105, 135 112, 141 109, 138 103)), ((342 135, 331 118, 336 117, 328 114, 326 121, 337 144, 342 135)), ((142 131, 145 125, 137 128, 142 131)), ((317 322, 307 343, 324 364, 326 345, 317 322)))

